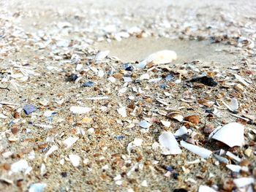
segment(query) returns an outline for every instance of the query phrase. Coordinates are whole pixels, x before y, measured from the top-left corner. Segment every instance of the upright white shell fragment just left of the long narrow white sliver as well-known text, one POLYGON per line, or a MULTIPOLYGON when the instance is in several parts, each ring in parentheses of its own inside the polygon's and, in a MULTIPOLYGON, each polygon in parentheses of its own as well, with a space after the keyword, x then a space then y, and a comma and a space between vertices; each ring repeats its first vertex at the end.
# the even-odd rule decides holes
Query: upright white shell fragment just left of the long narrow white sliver
POLYGON ((178 147, 178 142, 170 131, 164 131, 159 136, 159 143, 162 147, 163 155, 180 154, 181 149, 178 147))

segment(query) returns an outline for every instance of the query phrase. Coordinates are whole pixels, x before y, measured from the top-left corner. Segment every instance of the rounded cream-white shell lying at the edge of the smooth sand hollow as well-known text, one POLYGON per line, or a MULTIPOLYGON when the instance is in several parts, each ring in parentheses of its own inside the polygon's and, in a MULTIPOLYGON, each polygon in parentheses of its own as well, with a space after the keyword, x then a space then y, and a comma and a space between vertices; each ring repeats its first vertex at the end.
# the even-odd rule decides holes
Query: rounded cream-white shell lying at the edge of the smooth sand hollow
POLYGON ((168 64, 177 59, 177 54, 173 50, 160 50, 156 53, 148 55, 146 61, 154 64, 168 64))

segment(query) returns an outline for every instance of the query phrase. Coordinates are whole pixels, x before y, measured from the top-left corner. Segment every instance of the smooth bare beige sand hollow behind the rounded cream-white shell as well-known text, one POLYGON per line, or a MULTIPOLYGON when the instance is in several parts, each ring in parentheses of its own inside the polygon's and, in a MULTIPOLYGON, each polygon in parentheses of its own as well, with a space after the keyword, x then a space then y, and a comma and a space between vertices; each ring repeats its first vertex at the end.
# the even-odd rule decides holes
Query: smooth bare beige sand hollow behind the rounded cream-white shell
POLYGON ((178 55, 174 63, 184 63, 200 60, 206 64, 220 66, 231 66, 239 61, 242 55, 233 54, 236 47, 222 44, 213 44, 210 41, 195 41, 181 39, 167 39, 146 37, 138 39, 135 37, 123 39, 122 41, 96 42, 94 44, 99 50, 110 50, 111 56, 116 56, 123 62, 141 61, 147 55, 158 50, 174 50, 178 55))

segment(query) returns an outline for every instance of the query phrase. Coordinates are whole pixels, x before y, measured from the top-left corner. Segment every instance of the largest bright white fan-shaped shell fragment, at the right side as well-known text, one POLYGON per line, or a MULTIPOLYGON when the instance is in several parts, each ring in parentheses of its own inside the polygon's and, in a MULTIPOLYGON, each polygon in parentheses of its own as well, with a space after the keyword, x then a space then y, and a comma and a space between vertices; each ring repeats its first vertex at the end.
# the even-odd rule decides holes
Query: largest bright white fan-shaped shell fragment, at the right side
POLYGON ((212 139, 223 142, 229 147, 242 146, 244 144, 244 126, 240 123, 228 123, 219 128, 212 139))

